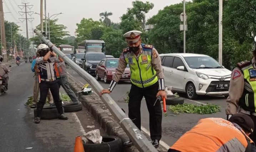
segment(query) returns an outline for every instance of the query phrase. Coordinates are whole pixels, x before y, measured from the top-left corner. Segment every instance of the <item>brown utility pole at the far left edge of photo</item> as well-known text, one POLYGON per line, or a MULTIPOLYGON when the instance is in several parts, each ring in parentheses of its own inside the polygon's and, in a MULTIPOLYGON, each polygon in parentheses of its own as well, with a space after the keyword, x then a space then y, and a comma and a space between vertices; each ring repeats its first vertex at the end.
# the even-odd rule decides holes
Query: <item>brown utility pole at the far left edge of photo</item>
MULTIPOLYGON (((2 7, 2 0, 0 0, 0 25, 1 25, 1 45, 6 49, 6 39, 5 39, 5 26, 4 26, 4 9, 2 7)), ((1 48, 1 55, 4 55, 1 48)), ((4 61, 6 61, 6 56, 4 55, 4 61)))

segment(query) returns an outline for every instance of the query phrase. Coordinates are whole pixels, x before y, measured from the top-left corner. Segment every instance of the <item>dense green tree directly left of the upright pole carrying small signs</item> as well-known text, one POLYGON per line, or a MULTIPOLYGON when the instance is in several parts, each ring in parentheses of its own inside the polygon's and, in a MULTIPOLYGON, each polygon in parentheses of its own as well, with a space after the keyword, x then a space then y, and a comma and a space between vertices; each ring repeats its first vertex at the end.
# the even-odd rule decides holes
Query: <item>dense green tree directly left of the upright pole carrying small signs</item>
POLYGON ((157 15, 150 18, 147 24, 154 25, 148 33, 149 43, 159 53, 177 53, 182 51, 183 40, 180 31, 180 13, 182 4, 166 6, 157 15))

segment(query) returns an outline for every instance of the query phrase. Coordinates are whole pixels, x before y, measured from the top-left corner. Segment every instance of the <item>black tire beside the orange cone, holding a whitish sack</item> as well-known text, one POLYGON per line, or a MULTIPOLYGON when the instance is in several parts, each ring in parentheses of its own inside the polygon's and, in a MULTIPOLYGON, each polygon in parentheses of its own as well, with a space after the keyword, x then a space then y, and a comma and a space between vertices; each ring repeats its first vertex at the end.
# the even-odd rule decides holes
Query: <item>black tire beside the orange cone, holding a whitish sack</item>
POLYGON ((102 136, 102 143, 83 143, 86 152, 122 152, 122 141, 115 136, 102 136))

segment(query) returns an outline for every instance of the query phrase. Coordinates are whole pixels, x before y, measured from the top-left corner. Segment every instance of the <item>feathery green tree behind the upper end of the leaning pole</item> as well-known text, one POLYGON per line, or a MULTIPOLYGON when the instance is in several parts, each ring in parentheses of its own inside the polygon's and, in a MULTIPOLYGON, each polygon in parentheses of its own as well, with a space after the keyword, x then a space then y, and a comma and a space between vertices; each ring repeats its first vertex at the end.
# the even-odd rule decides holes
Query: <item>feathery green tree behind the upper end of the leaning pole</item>
MULTIPOLYGON (((56 24, 56 22, 58 21, 57 19, 55 20, 49 20, 50 21, 50 40, 52 43, 54 43, 55 45, 61 45, 61 44, 66 44, 67 41, 64 40, 63 38, 66 36, 70 36, 70 34, 68 34, 69 32, 65 31, 67 29, 66 26, 64 25, 59 25, 56 24)), ((45 26, 45 22, 44 22, 44 26, 45 26)), ((41 25, 39 24, 38 26, 36 26, 37 29, 41 29, 41 25)), ((30 38, 30 40, 32 42, 34 42, 35 45, 39 45, 40 42, 40 38, 38 36, 34 37, 34 38, 30 38)))

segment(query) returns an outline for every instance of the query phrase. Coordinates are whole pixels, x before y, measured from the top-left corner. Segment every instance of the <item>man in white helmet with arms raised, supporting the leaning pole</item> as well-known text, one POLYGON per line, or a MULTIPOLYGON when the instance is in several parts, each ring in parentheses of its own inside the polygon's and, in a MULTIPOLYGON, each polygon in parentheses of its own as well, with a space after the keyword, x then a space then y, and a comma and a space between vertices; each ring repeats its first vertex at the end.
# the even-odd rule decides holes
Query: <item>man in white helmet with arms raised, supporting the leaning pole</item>
POLYGON ((49 89, 58 110, 59 119, 67 120, 68 118, 64 115, 64 110, 62 108, 62 101, 60 100, 59 95, 59 86, 56 80, 56 72, 54 70, 54 64, 62 62, 63 60, 61 58, 57 58, 56 54, 53 51, 50 51, 46 44, 40 44, 37 49, 40 57, 36 58, 36 64, 39 65, 41 82, 39 83, 40 99, 36 104, 35 123, 40 123, 41 112, 44 107, 49 89))

